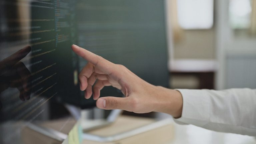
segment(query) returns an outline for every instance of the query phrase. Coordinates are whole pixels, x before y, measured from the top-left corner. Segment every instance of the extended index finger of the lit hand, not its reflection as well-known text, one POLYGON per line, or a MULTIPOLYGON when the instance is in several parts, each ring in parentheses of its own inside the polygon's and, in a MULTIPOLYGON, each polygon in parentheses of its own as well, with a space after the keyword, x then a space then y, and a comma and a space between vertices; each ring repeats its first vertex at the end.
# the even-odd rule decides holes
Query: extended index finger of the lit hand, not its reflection
POLYGON ((111 73, 113 63, 98 56, 86 49, 83 49, 77 45, 72 45, 72 50, 88 62, 92 63, 95 67, 99 68, 105 74, 111 73))

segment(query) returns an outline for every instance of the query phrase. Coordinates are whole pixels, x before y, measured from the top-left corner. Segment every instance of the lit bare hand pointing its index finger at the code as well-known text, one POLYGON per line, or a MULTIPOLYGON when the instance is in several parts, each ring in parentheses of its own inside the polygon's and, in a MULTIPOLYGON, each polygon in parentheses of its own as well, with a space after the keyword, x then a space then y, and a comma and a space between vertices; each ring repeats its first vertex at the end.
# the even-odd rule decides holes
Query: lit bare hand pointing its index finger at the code
POLYGON ((151 85, 125 66, 114 64, 76 45, 72 45, 72 49, 88 61, 79 74, 80 89, 85 90, 85 98, 90 98, 93 93, 93 98, 98 99, 104 86, 113 86, 125 95, 125 98, 99 98, 96 102, 98 108, 136 113, 156 111, 175 117, 181 115, 182 96, 178 91, 151 85))

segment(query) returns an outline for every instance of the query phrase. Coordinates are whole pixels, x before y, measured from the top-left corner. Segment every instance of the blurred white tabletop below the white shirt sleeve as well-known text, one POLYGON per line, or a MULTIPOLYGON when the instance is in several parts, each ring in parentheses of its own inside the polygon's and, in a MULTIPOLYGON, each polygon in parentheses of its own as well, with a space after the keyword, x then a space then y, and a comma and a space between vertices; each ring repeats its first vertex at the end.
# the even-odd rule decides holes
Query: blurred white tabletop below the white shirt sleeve
MULTIPOLYGON (((170 115, 158 113, 159 119, 169 118, 170 115)), ((174 141, 170 144, 255 144, 255 137, 221 133, 207 130, 194 125, 179 125, 174 123, 174 141)))

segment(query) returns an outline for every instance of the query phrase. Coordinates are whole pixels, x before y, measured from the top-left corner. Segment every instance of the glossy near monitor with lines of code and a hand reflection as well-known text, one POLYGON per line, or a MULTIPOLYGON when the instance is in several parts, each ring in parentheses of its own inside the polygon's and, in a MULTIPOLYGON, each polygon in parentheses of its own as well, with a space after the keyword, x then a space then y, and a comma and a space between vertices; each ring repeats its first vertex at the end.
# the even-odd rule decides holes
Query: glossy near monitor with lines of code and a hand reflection
MULTIPOLYGON (((30 123, 49 120, 52 101, 80 96, 73 0, 1 0, 0 143, 22 143, 30 123)), ((56 115, 58 113, 55 113, 56 115)))

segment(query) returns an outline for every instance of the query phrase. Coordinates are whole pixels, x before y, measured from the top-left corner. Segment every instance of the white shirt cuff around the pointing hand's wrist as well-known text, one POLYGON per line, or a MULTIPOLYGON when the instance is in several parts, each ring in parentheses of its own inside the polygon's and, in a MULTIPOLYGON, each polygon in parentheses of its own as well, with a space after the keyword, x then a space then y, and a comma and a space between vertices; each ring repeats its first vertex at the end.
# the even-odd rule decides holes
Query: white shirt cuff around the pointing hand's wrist
POLYGON ((176 89, 183 99, 182 115, 174 119, 178 124, 204 126, 209 122, 209 96, 206 90, 176 89))

